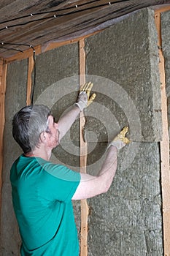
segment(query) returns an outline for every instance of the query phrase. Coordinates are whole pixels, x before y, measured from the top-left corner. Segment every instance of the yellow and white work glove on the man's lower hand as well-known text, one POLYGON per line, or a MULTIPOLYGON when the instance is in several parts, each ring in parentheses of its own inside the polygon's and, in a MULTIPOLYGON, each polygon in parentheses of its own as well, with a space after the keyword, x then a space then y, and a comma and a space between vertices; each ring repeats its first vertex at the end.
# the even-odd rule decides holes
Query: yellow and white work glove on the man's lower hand
MULTIPOLYGON (((123 148, 125 145, 130 143, 130 140, 125 137, 126 133, 128 132, 128 127, 124 127, 120 133, 117 134, 117 136, 112 140, 111 143, 109 143, 109 146, 115 146, 118 150, 123 148)), ((108 148, 109 148, 108 146, 108 148)))

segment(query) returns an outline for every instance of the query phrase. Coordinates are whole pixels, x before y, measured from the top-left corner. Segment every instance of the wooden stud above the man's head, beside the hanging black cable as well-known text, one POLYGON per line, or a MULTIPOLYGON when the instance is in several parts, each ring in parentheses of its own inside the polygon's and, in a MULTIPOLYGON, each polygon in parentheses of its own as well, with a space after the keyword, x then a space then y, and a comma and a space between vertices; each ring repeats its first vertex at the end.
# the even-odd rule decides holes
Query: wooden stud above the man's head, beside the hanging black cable
POLYGON ((31 88, 32 88, 32 72, 34 69, 34 57, 28 58, 28 75, 27 75, 27 93, 26 93, 26 105, 31 105, 31 88))

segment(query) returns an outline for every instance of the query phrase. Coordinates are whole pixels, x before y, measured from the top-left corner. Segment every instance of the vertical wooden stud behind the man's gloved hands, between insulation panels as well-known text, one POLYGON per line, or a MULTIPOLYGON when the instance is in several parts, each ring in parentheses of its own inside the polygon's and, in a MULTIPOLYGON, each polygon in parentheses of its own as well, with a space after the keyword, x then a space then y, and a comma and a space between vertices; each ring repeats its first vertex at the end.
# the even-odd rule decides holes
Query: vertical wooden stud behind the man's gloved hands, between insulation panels
MULTIPOLYGON (((80 40, 80 85, 85 83, 85 42, 80 40)), ((83 138, 83 129, 85 127, 85 115, 80 113, 80 172, 86 173, 88 144, 83 138)), ((88 255, 88 203, 87 200, 81 200, 81 241, 80 256, 88 255)))

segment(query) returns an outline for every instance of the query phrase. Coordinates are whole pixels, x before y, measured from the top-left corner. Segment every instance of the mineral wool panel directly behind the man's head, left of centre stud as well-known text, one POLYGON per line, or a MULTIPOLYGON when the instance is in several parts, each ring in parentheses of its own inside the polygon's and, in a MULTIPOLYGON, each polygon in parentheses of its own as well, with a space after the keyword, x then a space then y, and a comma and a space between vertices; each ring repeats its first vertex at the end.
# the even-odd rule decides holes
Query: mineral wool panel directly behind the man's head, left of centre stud
MULTIPOLYGON (((79 45, 63 45, 36 56, 36 86, 34 103, 47 105, 56 121, 77 101, 79 90, 79 45)), ((77 120, 66 136, 62 146, 53 151, 56 158, 64 163, 78 166, 80 153, 70 154, 69 148, 80 140, 77 120), (74 143, 75 141, 75 143, 74 143), (68 150, 66 149, 68 144, 68 150), (64 146, 65 145, 65 146, 64 146), (68 160, 66 162, 66 159, 68 160)), ((75 148, 77 146, 74 146, 75 148)))

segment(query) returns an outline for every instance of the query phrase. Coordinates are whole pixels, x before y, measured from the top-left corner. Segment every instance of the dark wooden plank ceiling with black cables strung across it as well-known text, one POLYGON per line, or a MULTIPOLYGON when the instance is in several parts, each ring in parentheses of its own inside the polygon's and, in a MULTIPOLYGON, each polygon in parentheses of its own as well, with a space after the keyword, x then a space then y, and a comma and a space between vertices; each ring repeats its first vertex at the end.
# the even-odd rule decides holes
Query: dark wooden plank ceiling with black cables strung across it
POLYGON ((170 0, 1 0, 0 58, 7 59, 37 45, 46 45, 89 31, 144 7, 170 4, 170 0))

